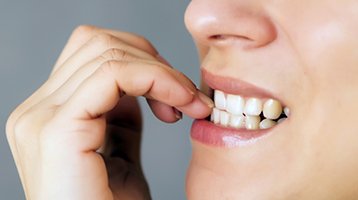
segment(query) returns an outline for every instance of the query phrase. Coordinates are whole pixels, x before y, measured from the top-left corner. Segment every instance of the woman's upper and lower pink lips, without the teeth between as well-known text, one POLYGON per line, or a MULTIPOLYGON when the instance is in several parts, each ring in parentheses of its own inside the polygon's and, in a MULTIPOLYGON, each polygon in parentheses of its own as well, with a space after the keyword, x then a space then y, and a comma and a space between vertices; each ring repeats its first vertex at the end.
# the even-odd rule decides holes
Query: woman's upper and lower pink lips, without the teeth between
MULTIPOLYGON (((202 68, 202 78, 212 89, 244 97, 275 98, 264 89, 233 78, 216 76, 202 68)), ((275 126, 276 127, 276 126, 275 126)), ((216 125, 206 120, 195 120, 191 127, 191 138, 203 144, 217 147, 236 147, 253 142, 270 133, 270 129, 232 129, 216 125)))

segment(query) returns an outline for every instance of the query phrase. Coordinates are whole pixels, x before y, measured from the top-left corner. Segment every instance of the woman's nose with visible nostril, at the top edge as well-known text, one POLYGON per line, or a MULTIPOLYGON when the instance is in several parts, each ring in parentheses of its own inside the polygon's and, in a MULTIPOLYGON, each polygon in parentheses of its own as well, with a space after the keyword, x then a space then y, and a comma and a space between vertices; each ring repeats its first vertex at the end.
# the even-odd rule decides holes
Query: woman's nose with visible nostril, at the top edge
POLYGON ((259 48, 277 36, 274 24, 255 0, 192 0, 185 24, 194 40, 205 46, 259 48))

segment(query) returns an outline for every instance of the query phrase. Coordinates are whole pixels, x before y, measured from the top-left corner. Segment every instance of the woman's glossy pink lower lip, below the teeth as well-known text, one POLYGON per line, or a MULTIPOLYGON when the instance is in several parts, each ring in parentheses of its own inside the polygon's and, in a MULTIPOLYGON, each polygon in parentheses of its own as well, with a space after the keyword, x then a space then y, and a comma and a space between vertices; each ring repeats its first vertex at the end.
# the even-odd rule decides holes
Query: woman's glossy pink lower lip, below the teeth
POLYGON ((191 127, 191 138, 210 146, 234 148, 256 142, 271 129, 232 129, 215 125, 207 120, 195 120, 191 127))

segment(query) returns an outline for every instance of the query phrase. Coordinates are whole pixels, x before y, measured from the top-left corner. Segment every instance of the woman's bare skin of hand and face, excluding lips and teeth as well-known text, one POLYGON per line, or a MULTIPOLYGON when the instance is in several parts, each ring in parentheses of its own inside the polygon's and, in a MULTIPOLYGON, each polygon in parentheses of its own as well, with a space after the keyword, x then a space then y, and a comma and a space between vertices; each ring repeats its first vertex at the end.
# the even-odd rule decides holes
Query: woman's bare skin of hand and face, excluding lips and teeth
MULTIPOLYGON (((247 146, 192 141, 188 199, 358 197, 357 10, 353 0, 191 1, 185 22, 202 68, 270 91, 291 115, 247 146)), ((26 197, 149 199, 132 96, 166 122, 212 108, 142 37, 77 28, 7 123, 26 197)))

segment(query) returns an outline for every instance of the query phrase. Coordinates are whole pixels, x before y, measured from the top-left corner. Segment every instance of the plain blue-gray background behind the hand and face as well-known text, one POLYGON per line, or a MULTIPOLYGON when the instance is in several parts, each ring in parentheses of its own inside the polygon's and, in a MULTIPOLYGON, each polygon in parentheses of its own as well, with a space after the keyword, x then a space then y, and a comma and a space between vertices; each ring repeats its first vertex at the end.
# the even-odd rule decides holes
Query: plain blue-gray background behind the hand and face
MULTIPOLYGON (((92 24, 144 35, 198 83, 196 51, 183 22, 189 0, 0 2, 0 199, 24 199, 6 142, 7 116, 46 80, 76 26, 92 24)), ((142 160, 152 197, 185 199, 191 120, 167 125, 153 117, 143 100, 141 105, 145 118, 142 160)))

